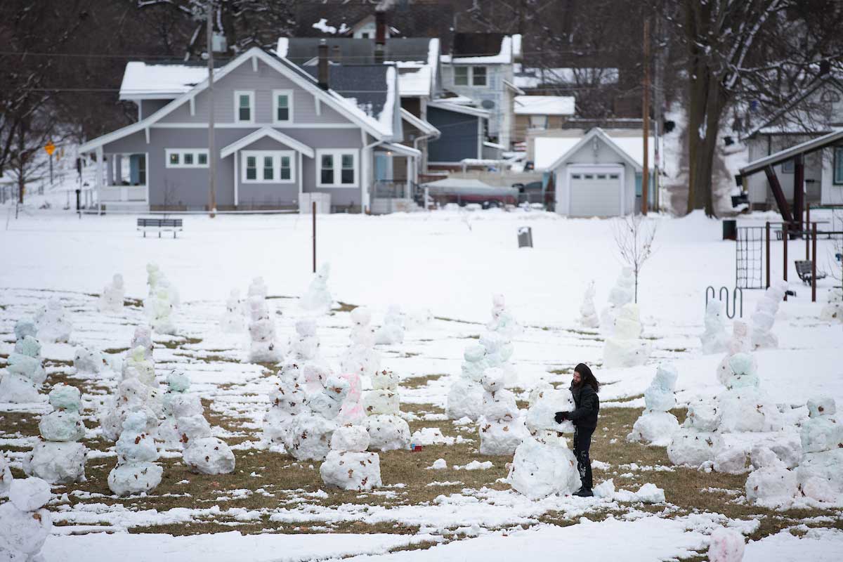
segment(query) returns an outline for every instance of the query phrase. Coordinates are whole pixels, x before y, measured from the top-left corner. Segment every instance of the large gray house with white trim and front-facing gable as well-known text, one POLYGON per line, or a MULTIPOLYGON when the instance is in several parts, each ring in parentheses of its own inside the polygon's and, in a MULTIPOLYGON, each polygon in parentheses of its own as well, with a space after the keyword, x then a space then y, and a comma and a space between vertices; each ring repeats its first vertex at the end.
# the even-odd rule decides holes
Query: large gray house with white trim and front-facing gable
POLYGON ((396 68, 357 69, 378 99, 352 99, 330 88, 333 71, 322 58, 319 72, 310 73, 255 47, 217 68, 213 154, 207 70, 130 62, 121 99, 137 103, 137 123, 80 148, 97 156, 100 205, 207 210, 208 163, 214 162, 220 211, 297 208, 311 194, 330 196, 335 211, 368 211, 377 206, 379 154, 410 162, 400 194, 410 201, 420 152, 400 144, 405 118, 396 68))

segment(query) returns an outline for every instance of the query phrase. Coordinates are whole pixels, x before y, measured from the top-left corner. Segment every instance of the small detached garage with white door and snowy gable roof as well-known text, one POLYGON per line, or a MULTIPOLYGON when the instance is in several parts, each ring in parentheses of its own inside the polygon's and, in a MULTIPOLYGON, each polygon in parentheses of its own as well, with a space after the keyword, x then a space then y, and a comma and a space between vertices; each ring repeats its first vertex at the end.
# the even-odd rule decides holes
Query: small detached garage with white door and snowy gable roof
MULTIPOLYGON (((618 217, 639 212, 643 139, 639 131, 566 129, 535 139, 536 169, 552 174, 556 212, 569 217, 618 217)), ((650 191, 654 201, 655 142, 649 140, 650 191)))

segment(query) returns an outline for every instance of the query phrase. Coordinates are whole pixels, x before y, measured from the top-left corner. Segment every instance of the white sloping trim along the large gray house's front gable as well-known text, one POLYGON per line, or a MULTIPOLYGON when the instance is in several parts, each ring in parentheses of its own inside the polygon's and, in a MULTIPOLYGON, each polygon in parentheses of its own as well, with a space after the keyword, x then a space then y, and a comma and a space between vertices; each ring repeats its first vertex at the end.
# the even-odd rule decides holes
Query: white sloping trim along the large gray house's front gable
MULTIPOLYGON (((245 51, 242 55, 238 56, 234 59, 234 61, 229 62, 224 67, 220 68, 217 72, 214 72, 214 82, 219 82, 223 78, 225 78, 229 72, 233 71, 235 68, 239 67, 241 64, 247 61, 251 61, 253 58, 260 59, 260 62, 266 63, 267 66, 275 69, 277 72, 281 73, 285 78, 289 78, 293 83, 296 83, 299 87, 309 90, 317 97, 317 99, 321 99, 325 101, 330 107, 341 113, 342 115, 346 116, 348 120, 356 123, 357 126, 360 126, 363 130, 367 131, 372 136, 380 140, 390 140, 389 135, 384 133, 384 131, 380 130, 379 123, 374 121, 368 115, 365 115, 362 110, 354 106, 351 101, 343 98, 340 94, 336 94, 333 91, 325 91, 322 88, 314 83, 313 81, 309 80, 308 78, 304 78, 298 72, 287 68, 287 66, 278 61, 276 57, 267 54, 265 51, 260 49, 259 47, 252 47, 249 51, 245 51)), ((181 104, 184 104, 185 101, 188 101, 197 94, 205 91, 208 86, 208 80, 205 78, 201 83, 196 84, 190 91, 186 92, 185 94, 181 94, 178 98, 171 101, 169 104, 164 105, 163 108, 153 113, 153 115, 149 115, 146 119, 140 120, 137 123, 132 123, 132 125, 125 126, 122 129, 118 129, 117 131, 111 131, 110 133, 98 136, 97 138, 85 142, 81 147, 79 147, 80 153, 89 153, 94 150, 96 147, 101 147, 109 142, 114 142, 118 139, 123 138, 124 136, 132 135, 132 133, 136 133, 137 131, 141 131, 142 129, 147 128, 148 126, 152 125, 153 123, 157 122, 158 120, 164 119, 167 115, 172 113, 174 110, 180 107, 181 104)))

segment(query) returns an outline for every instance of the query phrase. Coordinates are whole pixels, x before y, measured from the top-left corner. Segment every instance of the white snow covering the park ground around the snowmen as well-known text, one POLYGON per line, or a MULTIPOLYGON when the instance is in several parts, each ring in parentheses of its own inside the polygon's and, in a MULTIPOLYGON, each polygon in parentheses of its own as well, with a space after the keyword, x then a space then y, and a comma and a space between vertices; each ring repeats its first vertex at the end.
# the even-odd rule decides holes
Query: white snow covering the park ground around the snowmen
MULTIPOLYGON (((0 230, 0 364, 12 349, 14 321, 34 313, 48 297, 60 298, 74 323, 70 344, 44 345, 43 354, 51 361, 49 373, 67 376, 72 372, 62 361, 72 361, 75 345, 126 348, 135 325, 144 321, 142 310, 126 307, 119 315, 100 313, 92 293, 101 292, 111 276, 121 273, 127 297, 146 297, 145 265, 154 261, 179 288, 183 302, 175 313, 178 335, 158 338, 159 344, 166 344, 155 350, 159 375, 175 367, 185 370, 193 382, 192 389, 211 401, 215 415, 241 424, 238 432, 215 427, 214 434, 236 437, 239 442, 234 449, 239 454, 259 451, 257 441, 271 383, 265 367, 247 362, 247 336, 223 334, 218 318, 225 311, 230 289, 238 287, 244 292, 253 277, 263 276, 269 294, 278 297, 269 301, 276 312, 277 332, 282 340, 293 335, 293 321, 300 313, 297 301, 286 297, 300 295, 312 275, 309 217, 190 216, 185 217, 185 231, 176 239, 167 235, 142 238, 135 230, 134 218, 80 219, 61 211, 31 211, 17 220, 8 219, 3 225, 6 229, 0 230)), ((641 408, 643 400, 631 397, 640 396, 658 362, 669 359, 679 371, 677 398, 685 405, 722 389, 714 374, 721 356, 701 355, 698 336, 703 330, 706 286, 734 285, 734 243, 721 240, 719 221, 700 215, 680 219, 657 216, 652 220, 658 222, 656 252, 642 270, 638 302, 644 337, 652 344, 653 353, 647 365, 631 368, 601 369, 601 337, 577 326, 588 282, 595 281, 599 311, 620 272, 611 221, 572 220, 535 211, 319 216, 317 249, 319 262, 330 262, 329 286, 336 301, 367 305, 373 309, 376 323, 390 304, 397 303, 411 321, 405 343, 386 346, 382 351, 384 366, 397 372, 402 382, 431 377, 426 384, 401 388, 405 410, 413 404, 434 409, 408 412, 406 417, 412 420, 433 425, 443 419, 441 409, 450 383, 459 374, 464 346, 481 333, 482 323, 490 315, 491 295, 497 292, 506 295, 508 308, 525 326, 514 341, 517 377, 511 383, 520 399, 526 399, 525 391, 541 380, 567 384, 570 375, 566 372, 583 361, 598 367, 595 373, 604 383, 600 394, 604 407, 641 408), (523 226, 533 228, 533 249, 518 249, 517 230, 523 226), (428 311, 435 318, 429 318, 428 311)), ((765 220, 775 221, 776 217, 755 214, 738 223, 762 225, 765 220)), ((831 243, 820 240, 818 246, 820 265, 828 269, 831 243)), ((774 279, 781 277, 781 251, 781 242, 773 244, 774 279)), ((788 278, 796 280, 792 287, 797 296, 781 303, 776 318, 773 331, 781 345, 755 353, 763 388, 777 404, 792 406, 794 417, 807 415, 804 404, 817 393, 843 404, 843 329, 840 324, 819 322, 820 308, 834 281, 820 281, 818 302, 811 302, 810 288, 797 280, 792 263, 803 257, 803 252, 804 242, 790 243, 788 278)), ((760 295, 760 291, 744 292, 744 319, 749 319, 760 295)), ((348 341, 350 325, 346 312, 319 320, 322 355, 335 364, 348 341)), ((118 354, 115 359, 119 359, 118 354)), ((99 436, 94 414, 114 381, 85 383, 99 388, 99 393, 83 396, 88 438, 92 439, 99 436)), ((0 404, 0 410, 41 413, 38 408, 12 404, 0 404)), ((29 447, 34 437, 3 430, 0 447, 29 447)), ((431 447, 441 448, 439 456, 448 459, 448 443, 459 439, 476 439, 475 426, 466 431, 454 426, 450 435, 431 437, 432 443, 438 443, 431 447)), ((8 452, 15 468, 19 468, 24 454, 17 449, 8 452)), ((113 454, 113 448, 97 453, 102 457, 113 454)), ((599 460, 607 467, 616 464, 614 468, 621 468, 612 459, 599 460)), ((448 463, 456 464, 449 459, 448 463)), ((502 463, 496 460, 496 464, 502 463)), ((430 472, 434 475, 438 471, 430 472)), ((456 478, 463 479, 464 473, 458 474, 456 478)), ((142 559, 137 558, 138 553, 154 544, 163 553, 160 559, 208 561, 231 559, 232 553, 244 551, 250 553, 248 559, 267 560, 340 556, 512 559, 521 553, 544 559, 551 555, 556 558, 562 552, 575 555, 580 548, 588 549, 594 559, 648 560, 698 554, 706 548, 711 530, 723 524, 747 533, 758 527, 752 519, 728 520, 711 513, 659 517, 652 511, 642 511, 633 495, 626 500, 620 496, 602 500, 569 496, 530 501, 513 490, 465 487, 443 491, 432 502, 416 503, 402 492, 400 482, 386 480, 387 487, 378 493, 397 498, 389 505, 364 501, 324 506, 319 504, 319 492, 284 490, 282 474, 260 477, 267 484, 276 484, 267 486, 267 493, 284 497, 277 508, 229 509, 223 498, 218 502, 203 500, 193 509, 153 511, 138 509, 133 500, 115 502, 109 496, 99 503, 88 492, 75 496, 70 503, 59 497, 53 506, 55 520, 61 526, 47 541, 45 558, 142 559), (631 503, 629 498, 633 498, 631 503), (601 517, 600 522, 587 518, 606 510, 619 515, 601 517), (566 521, 579 524, 557 527, 541 519, 548 513, 561 514, 566 521), (261 520, 270 527, 268 530, 277 525, 306 524, 322 525, 330 531, 332 524, 356 521, 418 526, 419 533, 415 538, 403 534, 217 533, 170 537, 125 533, 129 528, 142 531, 150 525, 186 525, 217 516, 228 521, 261 520), (444 528, 451 532, 443 534, 444 528), (74 534, 93 530, 116 533, 74 534), (455 536, 476 538, 427 550, 389 553, 414 542, 441 542, 443 537, 455 536), (638 546, 633 548, 635 544, 638 546), (188 552, 190 555, 185 554, 188 552)), ((72 486, 63 491, 72 495, 72 486)), ((162 484, 156 493, 178 494, 178 490, 164 489, 162 484)), ((669 497, 667 501, 662 516, 671 511, 669 497)), ((839 526, 840 512, 836 517, 839 526)), ((804 538, 779 533, 749 543, 746 559, 796 559, 782 554, 790 552, 808 559, 831 559, 828 555, 839 554, 841 543, 840 533, 835 531, 811 530, 804 538)))

